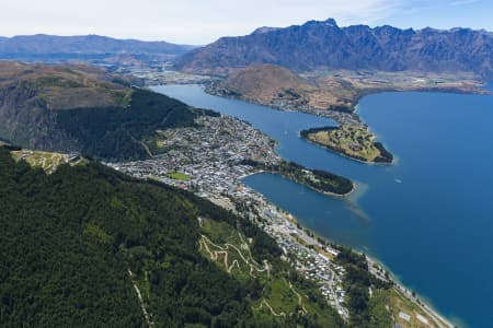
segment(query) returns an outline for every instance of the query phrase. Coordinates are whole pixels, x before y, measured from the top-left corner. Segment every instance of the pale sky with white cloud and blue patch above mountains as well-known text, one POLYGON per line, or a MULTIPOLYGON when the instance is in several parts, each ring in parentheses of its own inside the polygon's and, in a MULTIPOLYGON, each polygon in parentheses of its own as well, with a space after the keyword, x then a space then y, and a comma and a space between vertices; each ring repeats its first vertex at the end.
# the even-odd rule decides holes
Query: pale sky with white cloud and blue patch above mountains
POLYGON ((493 31, 492 0, 0 0, 0 35, 100 34, 205 45, 259 26, 334 17, 339 25, 493 31))

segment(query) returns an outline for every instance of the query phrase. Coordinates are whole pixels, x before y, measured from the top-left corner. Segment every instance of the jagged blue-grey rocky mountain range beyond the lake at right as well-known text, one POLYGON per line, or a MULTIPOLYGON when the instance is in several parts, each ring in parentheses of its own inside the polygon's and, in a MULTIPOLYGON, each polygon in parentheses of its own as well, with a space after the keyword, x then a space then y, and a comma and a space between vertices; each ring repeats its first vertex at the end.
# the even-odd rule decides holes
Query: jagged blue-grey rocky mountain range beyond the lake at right
POLYGON ((469 28, 340 27, 330 19, 222 37, 184 55, 176 67, 187 72, 227 74, 252 63, 275 63, 296 71, 467 71, 492 78, 493 34, 469 28))

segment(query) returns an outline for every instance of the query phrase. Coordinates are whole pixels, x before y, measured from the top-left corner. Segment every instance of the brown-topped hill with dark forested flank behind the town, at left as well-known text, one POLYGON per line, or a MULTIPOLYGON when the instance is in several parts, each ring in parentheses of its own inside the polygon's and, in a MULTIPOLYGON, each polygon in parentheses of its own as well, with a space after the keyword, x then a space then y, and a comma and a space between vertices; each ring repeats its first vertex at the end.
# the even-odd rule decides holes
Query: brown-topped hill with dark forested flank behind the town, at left
POLYGON ((106 160, 149 156, 141 140, 203 115, 85 66, 0 62, 0 138, 30 149, 106 160))

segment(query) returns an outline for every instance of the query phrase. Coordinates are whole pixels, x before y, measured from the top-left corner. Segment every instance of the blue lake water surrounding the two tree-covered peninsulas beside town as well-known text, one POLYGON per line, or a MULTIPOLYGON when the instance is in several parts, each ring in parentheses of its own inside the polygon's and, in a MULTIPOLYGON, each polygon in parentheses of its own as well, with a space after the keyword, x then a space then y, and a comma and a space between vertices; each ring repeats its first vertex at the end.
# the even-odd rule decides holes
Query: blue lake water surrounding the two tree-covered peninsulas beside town
POLYGON ((342 199, 276 175, 244 179, 307 227, 381 260, 446 317, 493 327, 493 96, 366 96, 359 115, 398 157, 367 165, 298 137, 330 119, 211 96, 197 85, 154 90, 246 120, 279 142, 284 159, 357 181, 357 192, 342 199))

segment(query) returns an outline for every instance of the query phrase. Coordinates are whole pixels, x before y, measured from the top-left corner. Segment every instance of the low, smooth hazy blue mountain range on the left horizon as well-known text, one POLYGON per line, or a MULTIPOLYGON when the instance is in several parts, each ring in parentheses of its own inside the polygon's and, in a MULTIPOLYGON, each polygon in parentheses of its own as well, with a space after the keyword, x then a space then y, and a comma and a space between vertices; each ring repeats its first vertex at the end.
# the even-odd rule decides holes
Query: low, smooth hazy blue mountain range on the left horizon
POLYGON ((116 39, 99 35, 56 36, 22 35, 0 37, 0 58, 22 57, 80 57, 96 55, 183 55, 193 46, 174 45, 167 42, 141 42, 116 39))

